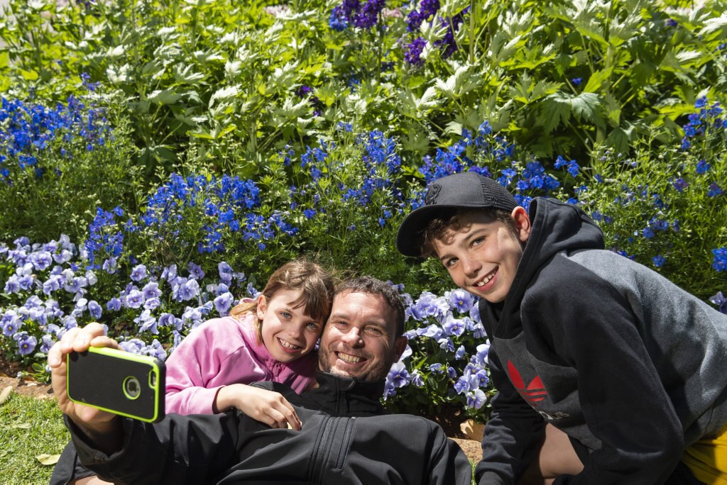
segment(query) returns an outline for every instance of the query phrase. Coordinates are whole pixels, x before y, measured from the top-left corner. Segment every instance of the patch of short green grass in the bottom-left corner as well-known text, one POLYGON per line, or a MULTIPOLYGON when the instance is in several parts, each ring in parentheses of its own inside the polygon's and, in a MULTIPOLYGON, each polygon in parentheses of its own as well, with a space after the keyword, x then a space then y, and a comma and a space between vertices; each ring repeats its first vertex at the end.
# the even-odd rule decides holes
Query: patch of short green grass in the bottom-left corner
POLYGON ((36 456, 60 454, 69 439, 55 399, 12 394, 0 405, 0 481, 47 484, 53 465, 42 465, 36 456))

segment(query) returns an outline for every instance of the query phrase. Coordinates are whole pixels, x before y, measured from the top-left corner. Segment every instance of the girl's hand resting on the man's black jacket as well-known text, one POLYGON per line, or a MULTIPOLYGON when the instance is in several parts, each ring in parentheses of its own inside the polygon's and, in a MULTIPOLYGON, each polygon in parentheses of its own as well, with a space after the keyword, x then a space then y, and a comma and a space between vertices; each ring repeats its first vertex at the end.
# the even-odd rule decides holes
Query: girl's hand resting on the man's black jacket
POLYGON ((282 394, 267 389, 245 384, 225 386, 214 399, 214 412, 222 412, 230 407, 240 409, 249 417, 271 428, 290 427, 300 431, 302 426, 292 404, 282 394))

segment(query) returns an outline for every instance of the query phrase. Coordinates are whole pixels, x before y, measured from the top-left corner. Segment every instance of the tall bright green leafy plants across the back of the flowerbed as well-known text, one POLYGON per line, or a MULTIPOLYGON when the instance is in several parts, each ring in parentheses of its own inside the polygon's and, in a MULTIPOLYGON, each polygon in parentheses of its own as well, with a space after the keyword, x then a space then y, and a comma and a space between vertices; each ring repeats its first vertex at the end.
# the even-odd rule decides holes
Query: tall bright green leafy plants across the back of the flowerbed
POLYGON ((89 73, 119 90, 149 176, 178 171, 188 148, 218 174, 252 176, 338 121, 393 130, 413 166, 485 119, 539 156, 627 152, 649 127, 678 136, 704 86, 724 91, 721 0, 449 0, 413 33, 417 4, 388 3, 374 28, 337 31, 333 1, 11 0, 0 86, 64 99, 89 73), (445 14, 463 20, 451 53, 433 47, 445 14), (407 59, 417 36, 421 65, 407 59))

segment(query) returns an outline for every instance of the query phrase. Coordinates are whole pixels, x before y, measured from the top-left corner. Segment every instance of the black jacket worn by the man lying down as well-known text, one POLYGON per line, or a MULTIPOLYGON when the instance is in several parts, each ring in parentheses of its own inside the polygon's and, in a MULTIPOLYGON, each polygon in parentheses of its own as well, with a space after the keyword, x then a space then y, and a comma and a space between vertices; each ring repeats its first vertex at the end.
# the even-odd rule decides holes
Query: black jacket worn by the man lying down
POLYGON ((318 372, 319 387, 280 392, 301 431, 273 429, 241 412, 168 415, 161 423, 123 419, 124 445, 105 455, 66 418, 81 462, 116 484, 469 485, 470 462, 430 420, 384 415, 383 381, 318 372))

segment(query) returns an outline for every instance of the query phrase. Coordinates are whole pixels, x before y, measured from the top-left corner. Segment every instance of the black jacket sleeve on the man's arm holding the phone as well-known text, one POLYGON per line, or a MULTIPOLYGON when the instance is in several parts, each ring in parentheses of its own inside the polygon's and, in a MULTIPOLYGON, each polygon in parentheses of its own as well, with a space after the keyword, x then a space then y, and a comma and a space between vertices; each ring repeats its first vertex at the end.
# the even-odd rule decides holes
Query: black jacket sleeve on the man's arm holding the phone
POLYGON ((105 455, 65 417, 81 463, 114 484, 201 484, 227 470, 241 413, 169 415, 161 423, 122 419, 124 445, 105 455))

